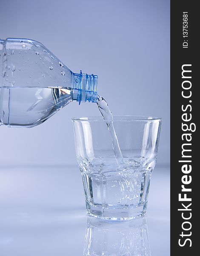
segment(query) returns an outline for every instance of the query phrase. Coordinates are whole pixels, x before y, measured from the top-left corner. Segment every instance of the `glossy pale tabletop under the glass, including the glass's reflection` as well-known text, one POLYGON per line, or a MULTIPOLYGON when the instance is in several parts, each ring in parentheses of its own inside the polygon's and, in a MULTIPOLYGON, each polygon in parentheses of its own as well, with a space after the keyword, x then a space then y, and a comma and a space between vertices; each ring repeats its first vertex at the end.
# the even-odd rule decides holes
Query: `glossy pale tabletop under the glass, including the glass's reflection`
POLYGON ((86 216, 76 165, 1 168, 0 255, 169 256, 169 188, 156 166, 146 218, 110 223, 86 216))

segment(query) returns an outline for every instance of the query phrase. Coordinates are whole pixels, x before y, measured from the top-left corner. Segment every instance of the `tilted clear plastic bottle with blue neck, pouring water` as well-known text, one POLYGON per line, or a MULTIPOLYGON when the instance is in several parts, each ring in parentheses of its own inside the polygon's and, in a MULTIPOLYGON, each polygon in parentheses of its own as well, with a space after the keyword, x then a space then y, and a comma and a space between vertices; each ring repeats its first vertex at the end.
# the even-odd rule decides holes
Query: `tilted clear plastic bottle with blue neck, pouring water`
POLYGON ((0 125, 34 127, 70 102, 97 102, 97 80, 73 73, 37 41, 0 40, 0 125))

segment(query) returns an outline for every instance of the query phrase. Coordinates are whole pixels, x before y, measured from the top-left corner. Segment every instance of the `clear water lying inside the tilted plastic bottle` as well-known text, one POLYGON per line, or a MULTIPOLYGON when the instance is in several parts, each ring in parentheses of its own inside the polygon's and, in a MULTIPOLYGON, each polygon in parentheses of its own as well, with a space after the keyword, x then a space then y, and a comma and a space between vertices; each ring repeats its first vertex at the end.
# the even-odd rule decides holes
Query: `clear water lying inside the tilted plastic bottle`
POLYGON ((1 122, 8 127, 34 127, 72 100, 67 87, 3 87, 0 89, 1 122))

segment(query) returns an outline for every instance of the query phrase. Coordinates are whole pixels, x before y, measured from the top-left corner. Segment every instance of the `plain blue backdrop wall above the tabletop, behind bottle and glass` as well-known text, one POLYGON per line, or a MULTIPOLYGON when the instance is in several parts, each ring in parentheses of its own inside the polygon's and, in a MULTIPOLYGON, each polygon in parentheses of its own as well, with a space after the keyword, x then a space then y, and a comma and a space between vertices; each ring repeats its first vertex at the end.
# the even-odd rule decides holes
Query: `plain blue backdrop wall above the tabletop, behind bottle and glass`
MULTIPOLYGON (((72 71, 99 76, 117 115, 161 116, 158 165, 169 164, 169 0, 6 0, 0 38, 40 41, 72 71)), ((75 163, 71 117, 99 115, 92 103, 66 106, 31 129, 0 127, 0 165, 75 163)))

